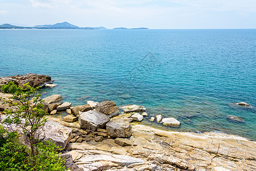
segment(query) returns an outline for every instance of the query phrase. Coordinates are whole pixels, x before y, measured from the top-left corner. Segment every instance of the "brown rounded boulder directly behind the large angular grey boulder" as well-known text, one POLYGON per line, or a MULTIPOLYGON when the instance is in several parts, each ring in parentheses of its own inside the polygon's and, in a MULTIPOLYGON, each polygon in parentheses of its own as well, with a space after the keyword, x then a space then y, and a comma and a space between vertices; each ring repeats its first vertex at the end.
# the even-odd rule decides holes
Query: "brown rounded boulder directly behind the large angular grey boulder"
POLYGON ((111 115, 110 117, 116 116, 119 113, 119 109, 114 101, 103 101, 97 104, 96 111, 111 115))

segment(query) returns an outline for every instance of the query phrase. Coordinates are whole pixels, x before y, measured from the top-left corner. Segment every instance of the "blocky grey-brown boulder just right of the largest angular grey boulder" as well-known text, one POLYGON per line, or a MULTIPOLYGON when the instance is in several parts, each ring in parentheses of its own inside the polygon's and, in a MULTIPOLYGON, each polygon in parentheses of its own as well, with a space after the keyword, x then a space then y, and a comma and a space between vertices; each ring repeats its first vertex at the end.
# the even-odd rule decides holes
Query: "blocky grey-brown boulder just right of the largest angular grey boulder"
POLYGON ((128 121, 109 121, 106 124, 106 129, 111 137, 129 137, 132 135, 132 125, 128 121))

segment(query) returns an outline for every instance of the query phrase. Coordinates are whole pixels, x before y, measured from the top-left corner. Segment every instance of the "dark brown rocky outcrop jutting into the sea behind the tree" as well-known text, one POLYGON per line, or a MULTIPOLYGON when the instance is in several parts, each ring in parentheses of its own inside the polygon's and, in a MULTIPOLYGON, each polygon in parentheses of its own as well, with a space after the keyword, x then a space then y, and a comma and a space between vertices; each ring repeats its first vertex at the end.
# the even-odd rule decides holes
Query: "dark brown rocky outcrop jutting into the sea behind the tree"
POLYGON ((23 86, 24 84, 29 83, 31 87, 43 87, 47 83, 52 83, 50 76, 29 73, 0 78, 0 88, 2 87, 2 84, 7 84, 10 81, 13 81, 17 86, 23 86))

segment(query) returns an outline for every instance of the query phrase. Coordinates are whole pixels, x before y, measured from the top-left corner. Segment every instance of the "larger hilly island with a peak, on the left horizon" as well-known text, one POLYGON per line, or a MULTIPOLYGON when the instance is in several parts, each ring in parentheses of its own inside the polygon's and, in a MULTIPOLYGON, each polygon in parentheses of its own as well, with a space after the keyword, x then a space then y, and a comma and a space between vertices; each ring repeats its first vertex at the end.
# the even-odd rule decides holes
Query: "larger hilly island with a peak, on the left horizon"
POLYGON ((17 28, 17 29, 22 29, 22 28, 38 28, 38 29, 107 29, 105 27, 78 27, 75 25, 71 25, 68 22, 63 22, 63 23, 56 23, 54 25, 37 25, 33 27, 22 27, 22 26, 13 26, 10 24, 3 24, 0 25, 0 28, 2 29, 10 29, 10 28, 17 28))

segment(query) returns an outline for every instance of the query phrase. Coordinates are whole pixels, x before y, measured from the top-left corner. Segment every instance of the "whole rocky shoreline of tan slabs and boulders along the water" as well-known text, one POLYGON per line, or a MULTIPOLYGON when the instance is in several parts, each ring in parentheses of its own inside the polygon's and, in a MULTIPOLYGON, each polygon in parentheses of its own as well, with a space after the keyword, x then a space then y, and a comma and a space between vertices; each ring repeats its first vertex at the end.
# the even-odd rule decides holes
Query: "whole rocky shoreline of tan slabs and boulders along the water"
MULTIPOLYGON (((0 84, 11 79, 16 79, 18 85, 52 83, 49 76, 29 75, 25 75, 27 79, 0 78, 0 84)), ((3 93, 0 96, 11 97, 3 93)), ((114 101, 87 101, 72 107, 67 101, 63 103, 61 95, 43 100, 49 115, 42 137, 64 148, 62 157, 69 170, 256 170, 256 142, 243 137, 162 131, 141 125, 138 123, 147 116, 147 109, 139 105, 119 108, 114 101), (59 116, 59 112, 67 116, 59 116)), ((0 101, 0 112, 5 108, 9 106, 0 101)), ((0 122, 5 118, 3 114, 0 122)), ((155 119, 168 127, 180 125, 178 120, 161 115, 149 120, 155 119)))

